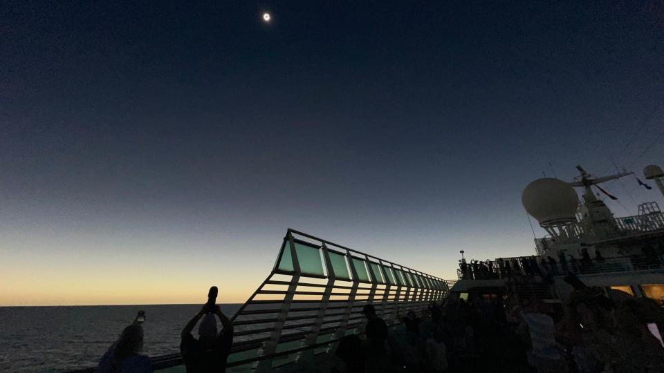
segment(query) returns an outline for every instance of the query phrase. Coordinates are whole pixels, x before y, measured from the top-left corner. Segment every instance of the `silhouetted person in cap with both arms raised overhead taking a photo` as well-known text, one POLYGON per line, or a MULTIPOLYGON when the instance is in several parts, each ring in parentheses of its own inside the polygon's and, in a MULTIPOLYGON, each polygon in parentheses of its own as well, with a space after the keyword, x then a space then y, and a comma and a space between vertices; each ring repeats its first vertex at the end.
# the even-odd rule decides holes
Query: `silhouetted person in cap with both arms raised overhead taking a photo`
POLYGON ((233 324, 226 317, 219 305, 214 308, 203 305, 181 333, 180 352, 182 353, 187 373, 225 372, 226 359, 233 344, 233 324), (217 332, 216 318, 219 317, 223 329, 217 332), (202 320, 201 320, 202 318, 202 320), (199 338, 192 336, 192 330, 199 324, 199 338))

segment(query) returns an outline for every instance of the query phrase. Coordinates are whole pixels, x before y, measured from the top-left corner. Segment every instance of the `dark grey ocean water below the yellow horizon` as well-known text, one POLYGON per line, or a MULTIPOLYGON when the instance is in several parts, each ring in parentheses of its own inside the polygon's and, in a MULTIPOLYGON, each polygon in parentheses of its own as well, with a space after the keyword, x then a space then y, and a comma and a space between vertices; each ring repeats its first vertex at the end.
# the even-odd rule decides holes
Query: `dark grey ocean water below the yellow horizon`
MULTIPOLYGON (((229 318, 241 305, 221 305, 229 318)), ((179 352, 180 332, 201 305, 0 307, 0 372, 93 367, 145 310, 143 353, 179 352)))

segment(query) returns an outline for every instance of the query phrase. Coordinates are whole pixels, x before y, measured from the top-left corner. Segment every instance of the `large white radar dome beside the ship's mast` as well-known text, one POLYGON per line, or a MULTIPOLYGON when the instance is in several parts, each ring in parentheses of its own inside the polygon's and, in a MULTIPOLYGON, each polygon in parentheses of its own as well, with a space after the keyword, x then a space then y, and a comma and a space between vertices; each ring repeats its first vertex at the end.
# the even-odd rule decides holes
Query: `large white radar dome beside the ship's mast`
POLYGON ((526 211, 544 227, 575 221, 579 196, 562 180, 542 178, 528 184, 521 201, 526 211))

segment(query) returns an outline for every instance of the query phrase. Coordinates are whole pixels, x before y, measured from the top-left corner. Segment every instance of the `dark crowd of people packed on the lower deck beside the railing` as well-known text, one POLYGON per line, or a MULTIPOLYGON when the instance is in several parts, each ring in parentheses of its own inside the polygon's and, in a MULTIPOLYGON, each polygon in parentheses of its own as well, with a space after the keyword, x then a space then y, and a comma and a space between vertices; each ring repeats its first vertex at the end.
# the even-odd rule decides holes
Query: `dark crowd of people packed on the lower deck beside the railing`
POLYGON ((609 298, 568 280, 575 290, 564 305, 450 296, 389 332, 369 306, 365 340, 345 337, 333 372, 664 372, 664 314, 654 300, 609 298))

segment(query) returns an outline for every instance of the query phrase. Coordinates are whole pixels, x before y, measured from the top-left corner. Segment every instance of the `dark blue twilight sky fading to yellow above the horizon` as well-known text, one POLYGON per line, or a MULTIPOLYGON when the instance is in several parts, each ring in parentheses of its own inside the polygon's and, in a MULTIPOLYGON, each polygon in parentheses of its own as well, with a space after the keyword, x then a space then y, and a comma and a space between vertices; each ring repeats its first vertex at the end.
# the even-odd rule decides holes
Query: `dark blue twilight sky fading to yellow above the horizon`
MULTIPOLYGON (((288 227, 455 278, 460 249, 533 253, 521 192, 543 172, 664 166, 659 2, 0 15, 0 305, 199 303, 210 285, 241 303, 288 227)), ((633 177, 605 188, 619 216, 664 206, 633 177)))

